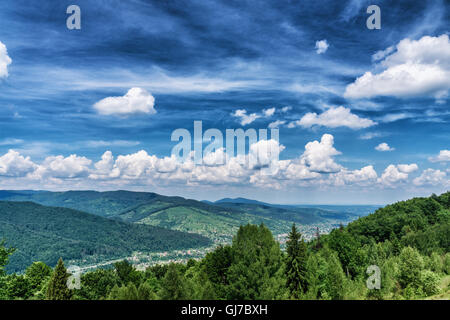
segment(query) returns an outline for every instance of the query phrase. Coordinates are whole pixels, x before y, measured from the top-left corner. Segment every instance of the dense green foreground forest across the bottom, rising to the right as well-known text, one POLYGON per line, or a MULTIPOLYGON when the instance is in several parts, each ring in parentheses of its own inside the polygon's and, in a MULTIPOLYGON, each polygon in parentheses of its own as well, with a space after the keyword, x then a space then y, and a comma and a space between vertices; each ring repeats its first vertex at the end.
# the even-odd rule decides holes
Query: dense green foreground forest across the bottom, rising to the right
MULTIPOLYGON (((201 260, 136 270, 124 260, 81 276, 69 290, 63 260, 6 274, 0 299, 449 299, 450 193, 398 202, 305 242, 295 225, 282 251, 264 225, 241 226, 231 245, 201 260), (369 266, 380 286, 368 286, 369 266), (371 289, 369 289, 369 287, 371 289)), ((369 279, 370 280, 370 279, 369 279)))

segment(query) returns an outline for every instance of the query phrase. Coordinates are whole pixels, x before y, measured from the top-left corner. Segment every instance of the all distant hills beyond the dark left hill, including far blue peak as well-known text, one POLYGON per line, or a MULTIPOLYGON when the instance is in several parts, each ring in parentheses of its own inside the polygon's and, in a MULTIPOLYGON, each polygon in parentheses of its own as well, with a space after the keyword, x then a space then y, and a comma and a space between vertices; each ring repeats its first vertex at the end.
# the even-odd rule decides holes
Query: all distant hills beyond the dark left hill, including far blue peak
MULTIPOLYGON (((71 208, 101 217, 197 233, 214 240, 231 240, 240 225, 264 223, 276 234, 285 234, 292 223, 326 228, 357 216, 348 211, 273 205, 244 198, 215 203, 151 192, 131 191, 0 191, 0 199, 32 201, 45 206, 71 208)), ((368 212, 369 213, 369 212, 368 212)), ((306 230, 305 230, 306 231, 306 230)))

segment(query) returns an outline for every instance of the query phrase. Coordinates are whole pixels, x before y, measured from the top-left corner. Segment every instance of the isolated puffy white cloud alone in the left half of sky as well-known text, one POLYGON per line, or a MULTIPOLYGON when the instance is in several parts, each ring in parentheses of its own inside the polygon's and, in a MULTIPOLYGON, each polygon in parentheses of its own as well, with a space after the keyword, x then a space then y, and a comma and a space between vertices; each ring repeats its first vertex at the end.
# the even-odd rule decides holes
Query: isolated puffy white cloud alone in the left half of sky
POLYGON ((129 115, 133 113, 154 114, 155 98, 146 90, 131 88, 122 97, 108 97, 94 104, 104 115, 129 115))

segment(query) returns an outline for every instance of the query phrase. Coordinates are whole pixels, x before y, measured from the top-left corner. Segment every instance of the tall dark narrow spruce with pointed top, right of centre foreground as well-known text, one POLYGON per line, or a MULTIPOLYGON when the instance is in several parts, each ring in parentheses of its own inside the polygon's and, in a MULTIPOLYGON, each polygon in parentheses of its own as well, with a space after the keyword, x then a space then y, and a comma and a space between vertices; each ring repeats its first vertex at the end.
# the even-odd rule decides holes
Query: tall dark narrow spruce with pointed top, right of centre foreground
POLYGON ((306 261, 307 248, 302 235, 297 231, 295 223, 286 242, 286 285, 291 296, 299 299, 307 290, 306 261))

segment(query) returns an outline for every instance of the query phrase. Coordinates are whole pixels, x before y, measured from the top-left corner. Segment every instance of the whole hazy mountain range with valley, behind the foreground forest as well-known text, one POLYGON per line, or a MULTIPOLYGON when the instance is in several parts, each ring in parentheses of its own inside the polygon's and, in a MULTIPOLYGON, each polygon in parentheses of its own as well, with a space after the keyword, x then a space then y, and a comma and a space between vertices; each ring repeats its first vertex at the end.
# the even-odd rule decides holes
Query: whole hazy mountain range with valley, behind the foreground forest
POLYGON ((131 191, 0 191, 0 239, 16 247, 11 270, 32 261, 97 263, 133 252, 205 248, 229 242, 239 226, 265 224, 285 234, 292 223, 336 226, 357 215, 330 209, 273 205, 244 198, 205 202, 131 191))

